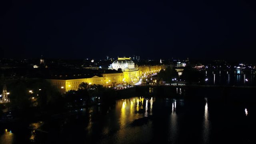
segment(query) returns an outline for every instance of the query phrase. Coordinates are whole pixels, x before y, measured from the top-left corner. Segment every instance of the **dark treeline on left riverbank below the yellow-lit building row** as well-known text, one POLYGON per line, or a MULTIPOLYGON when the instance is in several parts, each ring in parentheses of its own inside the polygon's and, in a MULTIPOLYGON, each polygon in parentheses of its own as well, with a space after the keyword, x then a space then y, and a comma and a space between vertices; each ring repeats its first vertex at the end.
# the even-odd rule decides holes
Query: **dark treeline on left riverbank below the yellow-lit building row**
POLYGON ((18 80, 8 84, 10 102, 0 104, 0 117, 8 109, 14 118, 29 119, 35 116, 68 112, 92 104, 113 104, 116 92, 101 85, 81 83, 78 90, 61 94, 47 80, 18 80))

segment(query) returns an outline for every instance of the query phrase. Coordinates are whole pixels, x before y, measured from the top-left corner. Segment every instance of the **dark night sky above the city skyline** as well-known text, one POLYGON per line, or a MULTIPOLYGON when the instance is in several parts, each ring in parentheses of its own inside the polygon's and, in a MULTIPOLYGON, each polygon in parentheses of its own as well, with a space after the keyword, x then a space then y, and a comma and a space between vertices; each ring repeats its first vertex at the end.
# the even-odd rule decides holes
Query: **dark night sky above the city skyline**
POLYGON ((246 0, 6 0, 5 58, 255 58, 256 3, 246 0))

